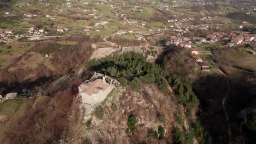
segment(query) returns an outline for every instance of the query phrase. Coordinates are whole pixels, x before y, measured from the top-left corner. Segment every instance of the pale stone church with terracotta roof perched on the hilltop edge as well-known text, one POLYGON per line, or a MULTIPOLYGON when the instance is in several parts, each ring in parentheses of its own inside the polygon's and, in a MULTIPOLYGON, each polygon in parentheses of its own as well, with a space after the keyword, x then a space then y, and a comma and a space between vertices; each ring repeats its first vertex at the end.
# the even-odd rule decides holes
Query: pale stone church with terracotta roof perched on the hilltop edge
POLYGON ((103 101, 109 92, 115 88, 114 84, 112 84, 112 79, 109 77, 111 81, 107 83, 106 77, 95 73, 90 80, 85 80, 78 87, 84 104, 96 104, 103 101))

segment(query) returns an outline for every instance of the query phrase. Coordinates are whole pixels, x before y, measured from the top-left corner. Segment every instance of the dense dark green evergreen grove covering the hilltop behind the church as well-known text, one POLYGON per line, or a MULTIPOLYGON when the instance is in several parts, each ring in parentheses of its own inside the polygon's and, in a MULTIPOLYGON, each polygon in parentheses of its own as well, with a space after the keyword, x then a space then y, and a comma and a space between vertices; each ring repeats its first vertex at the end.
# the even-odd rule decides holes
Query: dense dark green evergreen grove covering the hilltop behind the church
POLYGON ((159 90, 168 95, 168 87, 176 88, 178 100, 186 107, 195 108, 199 101, 192 91, 191 83, 183 83, 181 77, 168 73, 161 65, 149 63, 142 53, 134 51, 108 56, 98 60, 87 61, 86 69, 106 73, 120 79, 125 86, 126 80, 131 81, 135 91, 140 91, 141 83, 157 83, 159 90), (126 79, 126 80, 125 80, 126 79))

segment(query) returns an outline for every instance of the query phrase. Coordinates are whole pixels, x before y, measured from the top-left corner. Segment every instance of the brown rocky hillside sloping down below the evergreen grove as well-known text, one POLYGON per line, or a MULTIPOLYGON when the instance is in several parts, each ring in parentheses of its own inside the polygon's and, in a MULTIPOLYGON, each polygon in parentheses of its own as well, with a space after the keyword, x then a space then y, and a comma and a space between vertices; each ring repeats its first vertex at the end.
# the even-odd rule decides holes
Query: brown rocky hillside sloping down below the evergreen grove
POLYGON ((177 128, 188 131, 189 122, 184 108, 178 104, 173 94, 165 96, 154 84, 143 85, 139 93, 130 87, 116 88, 115 91, 115 94, 108 96, 107 104, 102 106, 102 119, 92 115, 89 125, 78 124, 75 139, 71 143, 79 143, 82 139, 93 144, 173 143, 173 131, 177 128), (184 126, 180 126, 175 120, 178 111, 184 119, 184 126), (134 133, 128 132, 130 115, 137 120, 134 133), (159 117, 164 119, 164 123, 159 117), (165 129, 165 138, 162 140, 150 136, 149 132, 158 131, 160 126, 165 129))

